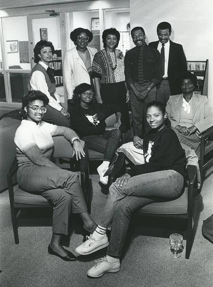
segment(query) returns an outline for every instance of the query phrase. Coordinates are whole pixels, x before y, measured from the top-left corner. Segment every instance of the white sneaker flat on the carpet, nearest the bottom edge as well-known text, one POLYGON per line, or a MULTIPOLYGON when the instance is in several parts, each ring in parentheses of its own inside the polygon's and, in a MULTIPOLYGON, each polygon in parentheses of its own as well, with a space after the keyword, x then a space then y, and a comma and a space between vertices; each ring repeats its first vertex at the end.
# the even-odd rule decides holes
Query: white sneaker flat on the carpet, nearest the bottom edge
POLYGON ((95 265, 87 271, 90 277, 101 277, 105 273, 118 272, 120 270, 120 260, 116 263, 109 263, 106 256, 104 258, 96 259, 95 265))

